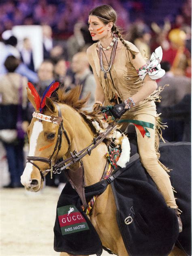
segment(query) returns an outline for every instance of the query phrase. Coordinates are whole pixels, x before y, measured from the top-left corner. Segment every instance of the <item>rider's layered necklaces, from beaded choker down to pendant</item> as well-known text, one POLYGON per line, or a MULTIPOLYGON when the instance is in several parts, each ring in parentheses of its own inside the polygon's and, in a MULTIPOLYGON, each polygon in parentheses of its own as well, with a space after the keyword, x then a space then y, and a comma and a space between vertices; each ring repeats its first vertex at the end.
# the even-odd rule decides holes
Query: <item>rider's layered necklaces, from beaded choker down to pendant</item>
MULTIPOLYGON (((103 48, 102 45, 100 44, 100 47, 99 47, 99 63, 100 63, 100 69, 104 73, 104 78, 105 79, 107 79, 107 72, 109 72, 109 70, 111 69, 113 61, 115 59, 115 52, 116 52, 116 49, 117 49, 117 43, 118 43, 118 37, 114 36, 113 40, 111 41, 110 45, 107 48, 103 48), (108 67, 105 70, 105 68, 103 66, 103 63, 102 63, 102 52, 105 55, 105 52, 103 50, 109 50, 111 47, 113 47, 113 49, 111 51, 110 61, 109 61, 109 63, 107 61, 108 67)), ((106 56, 105 56, 105 58, 106 58, 106 56)), ((106 58, 106 60, 107 60, 107 58, 106 58)))

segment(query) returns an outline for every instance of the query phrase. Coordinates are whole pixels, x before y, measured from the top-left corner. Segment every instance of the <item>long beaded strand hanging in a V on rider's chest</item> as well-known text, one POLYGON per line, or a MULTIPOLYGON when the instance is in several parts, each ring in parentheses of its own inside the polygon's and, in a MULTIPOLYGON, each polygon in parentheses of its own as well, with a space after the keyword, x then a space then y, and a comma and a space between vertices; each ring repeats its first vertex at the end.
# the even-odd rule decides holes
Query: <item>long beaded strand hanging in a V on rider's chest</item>
MULTIPOLYGON (((107 72, 109 72, 109 70, 111 69, 111 66, 113 64, 113 61, 115 59, 115 52, 116 52, 116 48, 117 48, 117 43, 118 43, 118 37, 114 37, 115 41, 113 43, 113 49, 111 51, 111 56, 110 56, 110 61, 107 67, 107 70, 105 70, 103 63, 102 63, 102 52, 103 52, 103 48, 99 47, 99 63, 100 63, 100 69, 102 70, 102 72, 104 73, 104 78, 107 79, 107 72)), ((104 53, 104 52, 103 52, 104 53)))

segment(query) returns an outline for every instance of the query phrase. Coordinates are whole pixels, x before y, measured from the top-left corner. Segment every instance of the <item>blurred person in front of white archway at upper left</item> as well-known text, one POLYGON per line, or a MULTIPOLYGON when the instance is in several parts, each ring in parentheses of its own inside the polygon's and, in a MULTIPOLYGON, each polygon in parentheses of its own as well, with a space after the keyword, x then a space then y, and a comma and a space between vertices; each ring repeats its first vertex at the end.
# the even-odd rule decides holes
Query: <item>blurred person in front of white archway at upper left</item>
POLYGON ((33 62, 33 54, 32 47, 29 38, 23 39, 23 48, 20 51, 21 61, 32 71, 34 71, 34 62, 33 62))

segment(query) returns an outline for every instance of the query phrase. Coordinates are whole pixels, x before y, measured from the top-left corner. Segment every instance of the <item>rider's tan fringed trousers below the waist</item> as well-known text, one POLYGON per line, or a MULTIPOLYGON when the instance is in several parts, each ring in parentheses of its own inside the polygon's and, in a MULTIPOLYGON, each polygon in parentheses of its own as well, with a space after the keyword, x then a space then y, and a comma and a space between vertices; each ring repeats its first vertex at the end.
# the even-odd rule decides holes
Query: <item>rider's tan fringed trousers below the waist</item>
MULTIPOLYGON (((150 137, 141 135, 141 132, 136 128, 138 150, 141 159, 141 163, 151 178, 157 185, 158 190, 162 193, 167 206, 171 208, 177 208, 171 181, 169 179, 169 169, 165 167, 159 161, 160 153, 159 147, 159 135, 161 133, 161 125, 159 123, 159 117, 154 117, 149 114, 129 114, 129 111, 123 115, 122 119, 134 119, 139 121, 145 121, 154 124, 154 129, 147 128, 150 132, 150 137)), ((122 130, 126 127, 124 124, 122 130)))

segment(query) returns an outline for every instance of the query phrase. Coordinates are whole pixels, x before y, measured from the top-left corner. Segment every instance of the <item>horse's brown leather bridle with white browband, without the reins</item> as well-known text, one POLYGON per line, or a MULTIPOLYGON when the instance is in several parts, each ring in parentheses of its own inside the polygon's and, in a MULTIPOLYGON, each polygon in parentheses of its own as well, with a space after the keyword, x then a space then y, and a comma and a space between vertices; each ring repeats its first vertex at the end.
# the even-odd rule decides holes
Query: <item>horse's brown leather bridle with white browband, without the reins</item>
POLYGON ((59 125, 58 137, 57 137, 57 141, 56 141, 53 153, 51 154, 50 158, 38 157, 38 156, 27 156, 26 157, 27 163, 31 163, 32 165, 34 165, 39 170, 39 172, 41 174, 41 178, 43 179, 43 181, 44 181, 44 178, 45 178, 44 175, 45 175, 46 172, 49 172, 49 171, 51 172, 51 178, 52 178, 53 173, 56 174, 56 173, 61 172, 61 171, 58 172, 58 170, 55 170, 54 166, 56 165, 58 153, 59 153, 59 151, 61 149, 61 146, 62 146, 62 135, 63 135, 63 133, 66 137, 67 142, 68 142, 68 150, 70 148, 70 139, 69 139, 69 137, 67 135, 67 132, 64 129, 64 126, 63 126, 63 119, 62 119, 60 106, 57 103, 55 103, 55 105, 58 108, 58 113, 59 113, 58 117, 56 117, 56 116, 47 116, 47 115, 43 115, 41 113, 36 113, 36 112, 33 113, 33 117, 38 118, 39 121, 44 120, 44 121, 48 121, 48 122, 51 122, 53 124, 58 124, 59 125), (57 150, 57 154, 56 154, 56 157, 55 157, 55 163, 53 164, 52 158, 53 158, 53 155, 55 154, 56 150, 57 150), (36 165, 32 161, 40 161, 40 162, 48 163, 50 169, 46 169, 45 171, 41 171, 41 168, 38 167, 38 165, 36 165))

